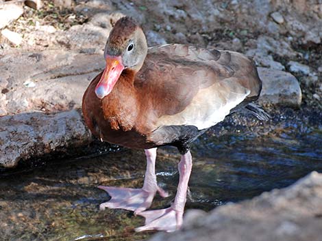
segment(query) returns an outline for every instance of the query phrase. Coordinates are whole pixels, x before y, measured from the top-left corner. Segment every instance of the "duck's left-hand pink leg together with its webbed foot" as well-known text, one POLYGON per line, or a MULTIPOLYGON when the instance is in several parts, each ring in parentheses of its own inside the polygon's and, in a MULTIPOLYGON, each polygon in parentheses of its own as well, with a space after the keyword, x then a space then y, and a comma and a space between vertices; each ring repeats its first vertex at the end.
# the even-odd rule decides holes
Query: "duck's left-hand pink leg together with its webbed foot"
POLYGON ((101 210, 105 208, 121 208, 134 211, 134 214, 138 214, 150 207, 157 191, 162 197, 168 196, 168 193, 160 188, 156 182, 156 150, 156 148, 145 150, 145 156, 147 156, 147 171, 145 171, 143 188, 99 186, 99 188, 106 190, 111 196, 110 201, 99 205, 101 210))

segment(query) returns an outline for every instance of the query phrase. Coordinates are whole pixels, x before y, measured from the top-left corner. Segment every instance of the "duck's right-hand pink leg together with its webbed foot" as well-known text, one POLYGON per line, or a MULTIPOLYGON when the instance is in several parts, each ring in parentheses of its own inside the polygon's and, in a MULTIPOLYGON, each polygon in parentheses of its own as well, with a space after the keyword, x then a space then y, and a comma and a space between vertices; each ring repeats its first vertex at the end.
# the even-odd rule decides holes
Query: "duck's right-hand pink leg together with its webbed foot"
POLYGON ((190 152, 187 152, 182 156, 178 165, 180 177, 175 201, 170 208, 140 212, 139 215, 145 217, 145 226, 136 228, 136 231, 153 229, 175 231, 182 226, 184 205, 186 204, 188 182, 192 167, 193 158, 191 157, 190 152))

